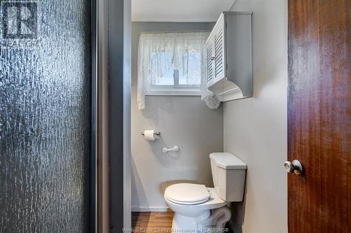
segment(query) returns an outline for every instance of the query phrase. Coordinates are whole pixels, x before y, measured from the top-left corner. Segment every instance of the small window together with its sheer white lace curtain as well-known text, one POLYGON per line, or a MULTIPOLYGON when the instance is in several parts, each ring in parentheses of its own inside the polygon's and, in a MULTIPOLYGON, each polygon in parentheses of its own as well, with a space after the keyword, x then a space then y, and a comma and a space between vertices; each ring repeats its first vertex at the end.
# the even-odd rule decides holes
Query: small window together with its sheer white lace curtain
POLYGON ((145 95, 200 95, 209 32, 143 33, 138 48, 138 107, 145 95))

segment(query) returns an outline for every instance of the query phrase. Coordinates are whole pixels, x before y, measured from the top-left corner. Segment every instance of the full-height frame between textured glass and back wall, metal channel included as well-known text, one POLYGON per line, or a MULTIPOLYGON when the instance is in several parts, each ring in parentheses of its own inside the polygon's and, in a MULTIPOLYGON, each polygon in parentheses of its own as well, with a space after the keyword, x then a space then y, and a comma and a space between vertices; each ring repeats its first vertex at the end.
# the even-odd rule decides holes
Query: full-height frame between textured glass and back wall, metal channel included
POLYGON ((121 232, 131 227, 131 0, 92 1, 92 229, 121 232))

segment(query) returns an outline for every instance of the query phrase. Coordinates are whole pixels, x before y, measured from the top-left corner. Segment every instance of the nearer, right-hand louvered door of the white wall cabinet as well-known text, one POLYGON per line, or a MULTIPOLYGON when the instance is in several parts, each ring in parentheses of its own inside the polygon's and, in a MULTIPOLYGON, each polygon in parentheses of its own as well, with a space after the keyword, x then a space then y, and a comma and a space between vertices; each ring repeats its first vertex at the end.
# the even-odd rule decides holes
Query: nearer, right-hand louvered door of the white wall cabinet
POLYGON ((224 45, 224 34, 225 34, 225 19, 220 18, 217 28, 214 33, 214 75, 215 80, 220 80, 225 77, 225 45, 224 45))

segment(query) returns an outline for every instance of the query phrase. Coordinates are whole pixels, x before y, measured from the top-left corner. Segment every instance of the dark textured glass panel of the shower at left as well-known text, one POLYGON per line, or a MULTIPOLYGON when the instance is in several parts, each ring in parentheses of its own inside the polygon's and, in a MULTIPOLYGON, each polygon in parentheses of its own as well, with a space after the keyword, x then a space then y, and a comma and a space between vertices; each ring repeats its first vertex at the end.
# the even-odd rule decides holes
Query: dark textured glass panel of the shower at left
POLYGON ((0 232, 88 232, 91 3, 0 3, 0 232))

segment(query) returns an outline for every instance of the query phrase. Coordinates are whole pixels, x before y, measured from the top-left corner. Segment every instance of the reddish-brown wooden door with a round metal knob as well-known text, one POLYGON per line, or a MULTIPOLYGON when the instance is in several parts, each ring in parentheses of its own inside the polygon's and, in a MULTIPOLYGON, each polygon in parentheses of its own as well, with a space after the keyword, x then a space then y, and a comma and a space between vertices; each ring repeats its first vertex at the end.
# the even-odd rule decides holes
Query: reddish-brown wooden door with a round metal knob
POLYGON ((289 232, 351 232, 350 30, 350 0, 289 0, 289 232))

